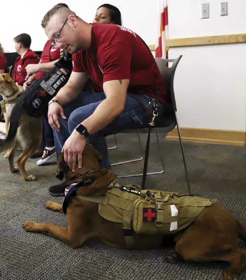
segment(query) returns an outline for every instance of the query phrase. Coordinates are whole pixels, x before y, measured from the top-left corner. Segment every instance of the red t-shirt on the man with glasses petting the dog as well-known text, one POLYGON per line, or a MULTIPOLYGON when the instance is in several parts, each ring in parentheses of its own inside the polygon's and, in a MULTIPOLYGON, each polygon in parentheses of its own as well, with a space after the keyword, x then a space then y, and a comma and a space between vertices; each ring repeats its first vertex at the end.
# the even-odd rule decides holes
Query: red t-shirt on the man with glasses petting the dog
POLYGON ((91 46, 87 51, 73 54, 73 71, 87 72, 101 88, 106 81, 129 79, 127 92, 153 97, 157 83, 159 101, 169 101, 166 86, 149 48, 126 27, 92 23, 91 46))

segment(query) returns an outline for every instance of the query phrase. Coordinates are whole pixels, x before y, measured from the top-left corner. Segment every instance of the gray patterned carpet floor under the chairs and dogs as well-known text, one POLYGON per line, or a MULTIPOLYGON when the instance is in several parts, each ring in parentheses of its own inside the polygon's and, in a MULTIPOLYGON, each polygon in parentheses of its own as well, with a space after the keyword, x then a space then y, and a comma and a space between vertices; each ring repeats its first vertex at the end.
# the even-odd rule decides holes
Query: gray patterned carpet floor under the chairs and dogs
MULTIPOLYGON (((146 135, 141 135, 145 148, 146 135)), ((165 172, 149 175, 146 187, 151 189, 187 192, 179 142, 161 140, 165 157, 165 172)), ((117 135, 117 149, 110 150, 112 163, 139 155, 137 136, 117 135)), ((245 185, 246 148, 215 144, 184 142, 185 156, 192 193, 215 198, 233 216, 246 224, 245 185)), ((108 137, 113 146, 113 137, 108 137)), ((19 152, 17 153, 19 154, 19 152)), ((160 279, 160 280, 218 280, 228 267, 225 262, 170 264, 164 260, 174 245, 154 250, 123 250, 109 247, 91 239, 79 249, 39 233, 27 233, 22 223, 33 220, 66 226, 66 215, 47 210, 46 200, 62 203, 63 197, 52 197, 48 187, 59 183, 55 178, 56 160, 43 166, 37 159, 28 159, 26 169, 37 176, 25 182, 18 173, 10 173, 7 160, 0 156, 0 279, 160 279)), ((149 170, 160 169, 160 153, 152 137, 149 170)), ((143 161, 117 165, 117 175, 142 171, 143 161)), ((141 177, 122 178, 119 183, 141 184, 141 177)), ((246 244, 240 241, 240 249, 246 244)), ((238 275, 246 279, 246 269, 238 275)))

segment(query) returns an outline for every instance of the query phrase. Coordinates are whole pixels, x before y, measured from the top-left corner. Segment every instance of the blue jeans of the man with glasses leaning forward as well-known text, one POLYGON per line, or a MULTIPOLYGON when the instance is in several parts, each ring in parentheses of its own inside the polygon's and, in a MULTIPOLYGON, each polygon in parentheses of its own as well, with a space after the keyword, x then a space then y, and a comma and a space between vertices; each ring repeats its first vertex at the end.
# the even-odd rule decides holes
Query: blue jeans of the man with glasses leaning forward
MULTIPOLYGON (((136 94, 136 96, 143 102, 150 113, 150 117, 152 117, 155 99, 148 95, 136 94)), ((63 120, 60 116, 58 116, 61 125, 60 131, 58 132, 57 130, 54 130, 57 156, 59 156, 66 139, 73 132, 74 128, 86 118, 88 118, 105 98, 105 93, 91 94, 89 90, 83 91, 77 100, 63 108, 67 120, 63 120)), ((163 115, 164 112, 165 104, 160 103, 158 116, 163 115)), ((97 131, 96 133, 90 134, 87 137, 86 142, 92 144, 103 156, 103 159, 100 162, 101 166, 110 169, 111 164, 109 161, 108 147, 105 136, 116 134, 124 129, 148 127, 148 122, 149 119, 145 109, 139 104, 137 100, 127 94, 123 112, 105 128, 97 131)), ((158 120, 156 124, 158 125, 158 120)))

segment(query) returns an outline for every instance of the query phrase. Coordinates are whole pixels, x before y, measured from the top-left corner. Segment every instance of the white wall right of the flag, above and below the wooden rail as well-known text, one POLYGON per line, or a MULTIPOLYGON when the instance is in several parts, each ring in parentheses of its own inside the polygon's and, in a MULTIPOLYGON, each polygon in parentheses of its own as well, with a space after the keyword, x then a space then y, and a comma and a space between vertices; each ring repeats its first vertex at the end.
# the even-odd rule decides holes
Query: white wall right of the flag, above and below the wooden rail
MULTIPOLYGON (((246 33, 246 1, 227 1, 228 16, 220 16, 224 1, 169 0, 169 38, 246 33), (209 19, 200 19, 200 3, 210 3, 209 19)), ((169 50, 170 58, 183 55, 175 77, 180 126, 245 131, 245 50, 246 43, 169 50)))

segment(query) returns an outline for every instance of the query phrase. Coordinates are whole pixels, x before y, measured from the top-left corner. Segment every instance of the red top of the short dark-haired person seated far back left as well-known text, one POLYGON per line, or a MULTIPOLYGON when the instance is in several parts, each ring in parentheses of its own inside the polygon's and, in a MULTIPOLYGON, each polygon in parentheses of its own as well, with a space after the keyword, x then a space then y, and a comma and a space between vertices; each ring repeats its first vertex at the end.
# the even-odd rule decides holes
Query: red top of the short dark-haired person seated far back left
POLYGON ((32 50, 27 50, 25 55, 21 58, 18 56, 14 63, 14 70, 12 72, 12 79, 14 82, 18 83, 18 85, 23 85, 25 83, 26 78, 26 66, 28 64, 37 64, 39 62, 39 58, 36 53, 32 50))

